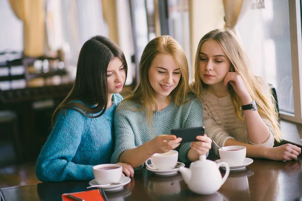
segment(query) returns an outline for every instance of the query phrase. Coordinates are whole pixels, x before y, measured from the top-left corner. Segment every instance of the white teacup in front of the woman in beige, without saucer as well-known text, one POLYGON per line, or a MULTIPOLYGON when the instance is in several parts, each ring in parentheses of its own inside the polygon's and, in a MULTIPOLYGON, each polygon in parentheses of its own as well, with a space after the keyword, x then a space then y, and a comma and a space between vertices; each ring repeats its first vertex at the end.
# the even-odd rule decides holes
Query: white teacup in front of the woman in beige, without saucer
POLYGON ((218 149, 220 160, 230 167, 241 165, 246 158, 247 148, 244 146, 227 146, 222 149, 218 149))

